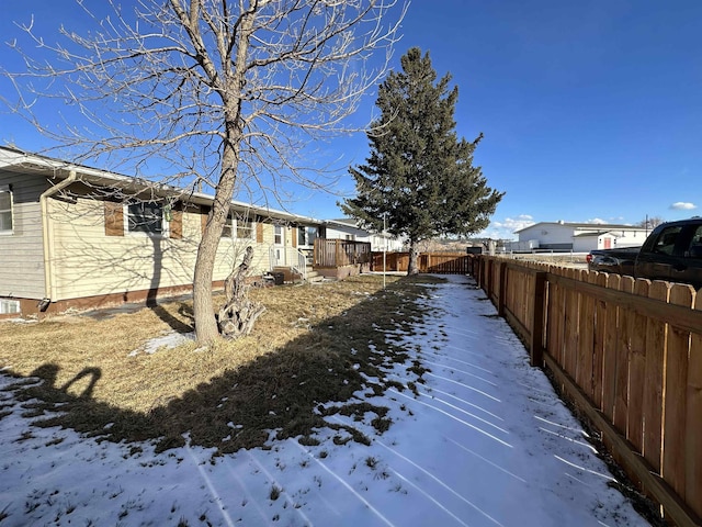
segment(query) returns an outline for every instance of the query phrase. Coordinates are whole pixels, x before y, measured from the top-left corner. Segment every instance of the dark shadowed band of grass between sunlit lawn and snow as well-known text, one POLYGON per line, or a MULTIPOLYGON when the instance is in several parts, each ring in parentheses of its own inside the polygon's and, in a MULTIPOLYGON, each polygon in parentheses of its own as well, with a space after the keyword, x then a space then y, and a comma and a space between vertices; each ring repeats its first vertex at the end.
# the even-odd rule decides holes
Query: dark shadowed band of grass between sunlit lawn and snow
MULTIPOLYGON (((16 382, 11 390, 35 410, 36 426, 68 427, 115 442, 152 440, 157 451, 184 445, 184 437, 192 445, 214 447, 219 455, 288 437, 302 436, 302 442, 314 445, 316 430, 325 428, 333 430, 335 442, 370 444, 369 430, 381 434, 389 419, 387 407, 366 399, 390 386, 412 392, 414 383, 422 383, 421 374, 427 371, 412 369, 403 343, 385 337, 390 329, 414 332, 422 312, 412 298, 424 294, 426 288, 406 284, 398 294, 392 288, 370 295, 342 315, 320 321, 309 333, 244 367, 170 401, 155 401, 149 412, 94 400, 95 386, 111 381, 97 367, 57 386, 59 367, 43 365, 31 374, 43 382, 16 382), (399 380, 397 363, 406 365, 406 375, 399 380), (69 393, 77 386, 82 391, 69 393), (30 402, 34 400, 39 403, 30 402), (336 413, 363 426, 326 419, 336 413)), ((180 309, 186 312, 183 304, 180 309)))

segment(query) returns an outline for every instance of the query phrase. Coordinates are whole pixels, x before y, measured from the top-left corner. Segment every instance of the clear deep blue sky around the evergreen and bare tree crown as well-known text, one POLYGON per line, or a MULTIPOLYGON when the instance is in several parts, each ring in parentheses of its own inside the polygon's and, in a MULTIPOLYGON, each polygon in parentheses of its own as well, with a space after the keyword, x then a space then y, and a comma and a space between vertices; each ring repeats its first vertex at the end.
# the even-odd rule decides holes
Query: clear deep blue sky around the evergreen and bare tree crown
MULTIPOLYGON (((45 31, 80 24, 65 0, 8 2, 11 21, 37 14, 45 31), (59 9, 60 5, 60 9, 59 9)), ((458 86, 458 135, 485 138, 475 160, 507 194, 484 233, 512 237, 530 222, 636 223, 678 220, 702 206, 702 2, 698 0, 415 0, 393 64, 411 46, 429 51, 458 86), (695 184, 693 184, 695 183, 695 184)), ((10 69, 12 54, 0 52, 10 69)), ((0 94, 10 87, 0 82, 0 94)), ((374 112, 366 98, 359 119, 374 112)), ((0 110, 0 142, 32 150, 42 139, 0 110)), ((47 119, 52 119, 47 116, 47 119)), ((364 135, 337 139, 344 166, 363 162, 364 135)), ((288 208, 339 217, 337 195, 297 192, 288 208)))

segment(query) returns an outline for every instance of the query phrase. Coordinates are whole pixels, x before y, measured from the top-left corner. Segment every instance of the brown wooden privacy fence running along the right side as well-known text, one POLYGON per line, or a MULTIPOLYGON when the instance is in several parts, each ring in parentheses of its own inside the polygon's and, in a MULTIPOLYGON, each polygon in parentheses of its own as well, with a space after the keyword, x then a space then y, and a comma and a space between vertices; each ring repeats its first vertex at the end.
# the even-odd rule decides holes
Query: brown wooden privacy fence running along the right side
POLYGON ((677 525, 702 525, 702 292, 496 257, 471 273, 677 525))

